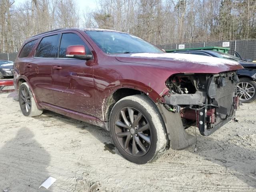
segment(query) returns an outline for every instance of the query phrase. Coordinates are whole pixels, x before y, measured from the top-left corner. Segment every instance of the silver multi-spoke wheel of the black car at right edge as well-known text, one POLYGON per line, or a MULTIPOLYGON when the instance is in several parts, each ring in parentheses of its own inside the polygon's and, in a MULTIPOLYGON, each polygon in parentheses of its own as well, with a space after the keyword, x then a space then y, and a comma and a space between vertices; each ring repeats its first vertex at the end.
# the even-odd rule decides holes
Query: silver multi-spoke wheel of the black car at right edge
POLYGON ((249 78, 240 78, 237 84, 239 100, 243 103, 250 103, 256 100, 256 82, 249 78))

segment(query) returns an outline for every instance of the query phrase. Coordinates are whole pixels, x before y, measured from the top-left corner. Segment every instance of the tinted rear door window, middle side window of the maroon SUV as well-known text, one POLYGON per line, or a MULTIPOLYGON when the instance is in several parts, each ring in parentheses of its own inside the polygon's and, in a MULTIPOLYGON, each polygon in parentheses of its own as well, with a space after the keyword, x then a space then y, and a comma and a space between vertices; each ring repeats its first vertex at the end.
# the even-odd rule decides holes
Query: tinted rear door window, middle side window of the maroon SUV
POLYGON ((35 57, 55 58, 58 50, 58 35, 52 35, 42 38, 36 49, 35 57))

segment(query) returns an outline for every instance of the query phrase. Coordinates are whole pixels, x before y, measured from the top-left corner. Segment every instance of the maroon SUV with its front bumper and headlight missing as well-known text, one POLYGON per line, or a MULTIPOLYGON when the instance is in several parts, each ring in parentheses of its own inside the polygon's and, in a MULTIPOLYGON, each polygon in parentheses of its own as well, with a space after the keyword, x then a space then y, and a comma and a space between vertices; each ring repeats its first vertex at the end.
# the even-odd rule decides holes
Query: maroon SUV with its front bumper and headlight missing
POLYGON ((237 62, 170 54, 127 33, 59 29, 26 40, 14 63, 25 116, 44 109, 110 131, 118 151, 144 164, 234 118, 237 62))

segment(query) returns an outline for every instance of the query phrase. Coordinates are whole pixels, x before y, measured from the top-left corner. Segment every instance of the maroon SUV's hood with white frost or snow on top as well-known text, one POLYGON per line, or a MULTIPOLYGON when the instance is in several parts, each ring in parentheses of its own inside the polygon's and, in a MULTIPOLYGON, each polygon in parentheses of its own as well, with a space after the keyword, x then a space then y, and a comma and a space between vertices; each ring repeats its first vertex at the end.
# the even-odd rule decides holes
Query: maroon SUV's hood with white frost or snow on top
POLYGON ((216 74, 243 68, 238 62, 226 59, 181 53, 134 53, 115 57, 120 62, 162 66, 181 73, 216 74))

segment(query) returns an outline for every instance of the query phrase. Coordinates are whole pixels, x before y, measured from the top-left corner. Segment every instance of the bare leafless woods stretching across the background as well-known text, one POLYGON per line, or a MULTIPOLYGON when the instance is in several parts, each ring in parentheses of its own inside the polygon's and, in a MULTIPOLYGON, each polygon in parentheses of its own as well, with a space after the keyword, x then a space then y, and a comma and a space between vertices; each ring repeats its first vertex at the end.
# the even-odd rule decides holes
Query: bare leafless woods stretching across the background
POLYGON ((98 0, 94 10, 76 0, 0 0, 0 52, 55 28, 120 30, 153 44, 249 39, 256 0, 98 0))

